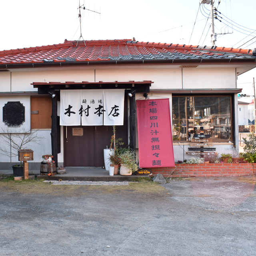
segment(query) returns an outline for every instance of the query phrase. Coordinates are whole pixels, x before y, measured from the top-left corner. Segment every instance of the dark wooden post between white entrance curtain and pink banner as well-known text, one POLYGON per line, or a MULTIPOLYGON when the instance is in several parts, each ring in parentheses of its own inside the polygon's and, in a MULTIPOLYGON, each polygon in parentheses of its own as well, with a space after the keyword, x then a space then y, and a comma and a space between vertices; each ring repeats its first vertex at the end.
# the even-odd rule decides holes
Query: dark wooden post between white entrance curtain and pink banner
POLYGON ((136 100, 130 97, 130 148, 136 150, 136 100))

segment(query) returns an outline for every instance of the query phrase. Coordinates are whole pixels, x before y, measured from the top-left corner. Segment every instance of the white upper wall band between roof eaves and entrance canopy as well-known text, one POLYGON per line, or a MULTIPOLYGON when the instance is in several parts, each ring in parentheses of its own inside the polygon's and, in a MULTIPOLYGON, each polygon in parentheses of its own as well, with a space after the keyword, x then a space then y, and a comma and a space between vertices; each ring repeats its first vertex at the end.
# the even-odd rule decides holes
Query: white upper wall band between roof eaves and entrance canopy
POLYGON ((177 68, 171 66, 141 67, 83 67, 67 70, 29 69, 0 73, 0 92, 32 92, 33 82, 125 82, 151 80, 151 89, 236 88, 235 68, 177 68), (11 73, 11 74, 10 74, 11 73))

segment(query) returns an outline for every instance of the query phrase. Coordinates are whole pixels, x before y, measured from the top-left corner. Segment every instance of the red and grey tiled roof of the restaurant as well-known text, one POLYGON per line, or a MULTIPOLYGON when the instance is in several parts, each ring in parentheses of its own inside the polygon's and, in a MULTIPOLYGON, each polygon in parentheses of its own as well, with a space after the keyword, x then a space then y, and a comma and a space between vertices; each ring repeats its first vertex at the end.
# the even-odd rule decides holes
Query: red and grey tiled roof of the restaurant
POLYGON ((216 46, 192 46, 162 44, 132 40, 65 40, 63 44, 0 51, 0 66, 52 62, 202 62, 206 61, 254 61, 256 49, 244 50, 216 46))

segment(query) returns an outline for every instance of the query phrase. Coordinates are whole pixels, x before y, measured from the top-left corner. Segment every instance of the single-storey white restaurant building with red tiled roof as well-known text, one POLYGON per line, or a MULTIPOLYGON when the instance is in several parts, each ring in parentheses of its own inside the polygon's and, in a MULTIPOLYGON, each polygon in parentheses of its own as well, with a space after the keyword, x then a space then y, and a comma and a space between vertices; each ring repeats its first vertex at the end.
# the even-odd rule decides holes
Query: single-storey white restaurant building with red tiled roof
MULTIPOLYGON (((255 61, 255 49, 132 40, 65 40, 1 51, 0 129, 2 134, 38 130, 40 145, 29 147, 34 150, 31 169, 39 168, 42 154, 51 152, 59 165, 103 166, 112 126, 60 125, 60 95, 72 98, 75 90, 98 95, 98 90, 122 89, 124 118, 116 136, 131 148, 139 147, 135 100, 146 93, 150 99, 169 99, 175 161, 190 157, 188 148, 198 135, 208 138, 216 152, 233 154, 233 146, 238 145, 237 93, 241 92, 236 80, 256 67, 255 61)), ((72 112, 70 107, 65 106, 67 112, 72 112)), ((13 162, 18 159, 1 156, 0 168, 10 168, 13 162)))

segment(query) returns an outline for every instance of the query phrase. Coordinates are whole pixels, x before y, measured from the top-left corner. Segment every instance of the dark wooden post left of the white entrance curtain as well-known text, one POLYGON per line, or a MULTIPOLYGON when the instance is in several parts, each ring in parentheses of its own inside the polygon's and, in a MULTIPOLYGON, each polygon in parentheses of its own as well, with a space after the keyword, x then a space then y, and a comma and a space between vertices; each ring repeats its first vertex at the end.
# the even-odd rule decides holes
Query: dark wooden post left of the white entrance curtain
POLYGON ((57 142, 57 96, 52 98, 52 155, 56 166, 58 166, 58 142, 57 142))

